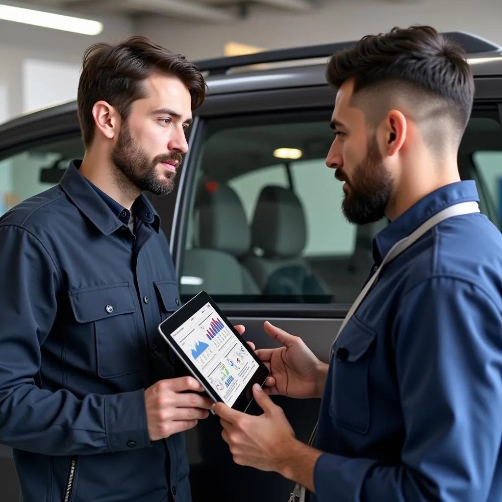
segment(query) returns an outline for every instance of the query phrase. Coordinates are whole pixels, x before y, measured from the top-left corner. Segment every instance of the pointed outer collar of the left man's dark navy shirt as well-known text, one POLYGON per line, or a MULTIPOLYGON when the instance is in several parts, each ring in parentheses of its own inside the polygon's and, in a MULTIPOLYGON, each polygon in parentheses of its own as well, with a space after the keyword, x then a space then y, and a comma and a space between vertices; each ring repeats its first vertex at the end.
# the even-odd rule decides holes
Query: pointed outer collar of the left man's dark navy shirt
MULTIPOLYGON (((102 233, 109 235, 124 224, 120 220, 120 213, 125 209, 99 188, 94 188, 95 185, 91 186, 88 180, 80 174, 81 164, 81 160, 70 162, 61 178, 61 188, 102 233), (101 194, 104 194, 105 197, 101 194)), ((142 193, 134 201, 133 212, 135 217, 140 218, 152 226, 156 232, 159 232, 160 217, 145 194, 142 193)))

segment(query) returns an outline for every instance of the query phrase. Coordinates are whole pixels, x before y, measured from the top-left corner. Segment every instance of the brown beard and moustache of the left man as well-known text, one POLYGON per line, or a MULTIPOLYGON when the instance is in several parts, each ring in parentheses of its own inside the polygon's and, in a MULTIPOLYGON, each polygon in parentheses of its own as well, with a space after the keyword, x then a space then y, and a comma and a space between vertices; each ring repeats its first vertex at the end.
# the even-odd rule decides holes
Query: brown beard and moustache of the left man
POLYGON ((177 152, 157 155, 150 160, 148 153, 137 146, 126 122, 120 128, 118 140, 111 152, 111 161, 123 176, 139 190, 154 195, 167 195, 172 192, 176 173, 166 172, 162 177, 157 175, 156 167, 161 162, 177 160, 178 168, 183 157, 177 152))

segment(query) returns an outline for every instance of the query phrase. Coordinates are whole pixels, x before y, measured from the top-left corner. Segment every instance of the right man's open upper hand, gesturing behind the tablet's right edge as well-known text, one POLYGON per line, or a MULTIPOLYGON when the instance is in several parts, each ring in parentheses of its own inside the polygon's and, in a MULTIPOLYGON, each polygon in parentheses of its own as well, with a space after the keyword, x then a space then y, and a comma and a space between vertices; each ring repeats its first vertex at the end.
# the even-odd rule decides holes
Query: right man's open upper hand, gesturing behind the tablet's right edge
POLYGON ((320 361, 303 340, 265 322, 267 334, 282 347, 256 350, 270 370, 264 390, 291 398, 321 397, 328 365, 320 361))

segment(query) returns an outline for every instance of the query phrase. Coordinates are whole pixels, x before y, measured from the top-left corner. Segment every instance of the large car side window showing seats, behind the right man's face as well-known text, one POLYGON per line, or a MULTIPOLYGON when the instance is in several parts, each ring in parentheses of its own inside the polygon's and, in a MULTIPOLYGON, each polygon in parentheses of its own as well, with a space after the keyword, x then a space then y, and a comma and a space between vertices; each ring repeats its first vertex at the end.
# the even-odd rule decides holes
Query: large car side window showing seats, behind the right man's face
MULTIPOLYGON (((476 181, 481 211, 499 225, 502 142, 494 116, 470 119, 459 169, 476 181)), ((203 289, 233 303, 355 300, 372 265, 372 239, 388 222, 346 221, 341 184, 325 165, 332 140, 329 110, 207 121, 182 257, 185 299, 203 289), (278 158, 278 149, 292 158, 278 158)))

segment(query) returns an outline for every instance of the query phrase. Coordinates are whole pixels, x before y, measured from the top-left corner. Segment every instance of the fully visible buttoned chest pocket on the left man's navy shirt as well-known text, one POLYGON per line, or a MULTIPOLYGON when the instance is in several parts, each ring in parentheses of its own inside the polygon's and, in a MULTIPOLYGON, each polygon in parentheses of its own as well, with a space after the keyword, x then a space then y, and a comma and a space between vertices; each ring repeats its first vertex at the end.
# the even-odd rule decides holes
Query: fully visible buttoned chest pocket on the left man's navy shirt
POLYGON ((136 305, 129 283, 83 288, 69 295, 75 320, 94 330, 98 375, 107 379, 138 371, 136 305))

